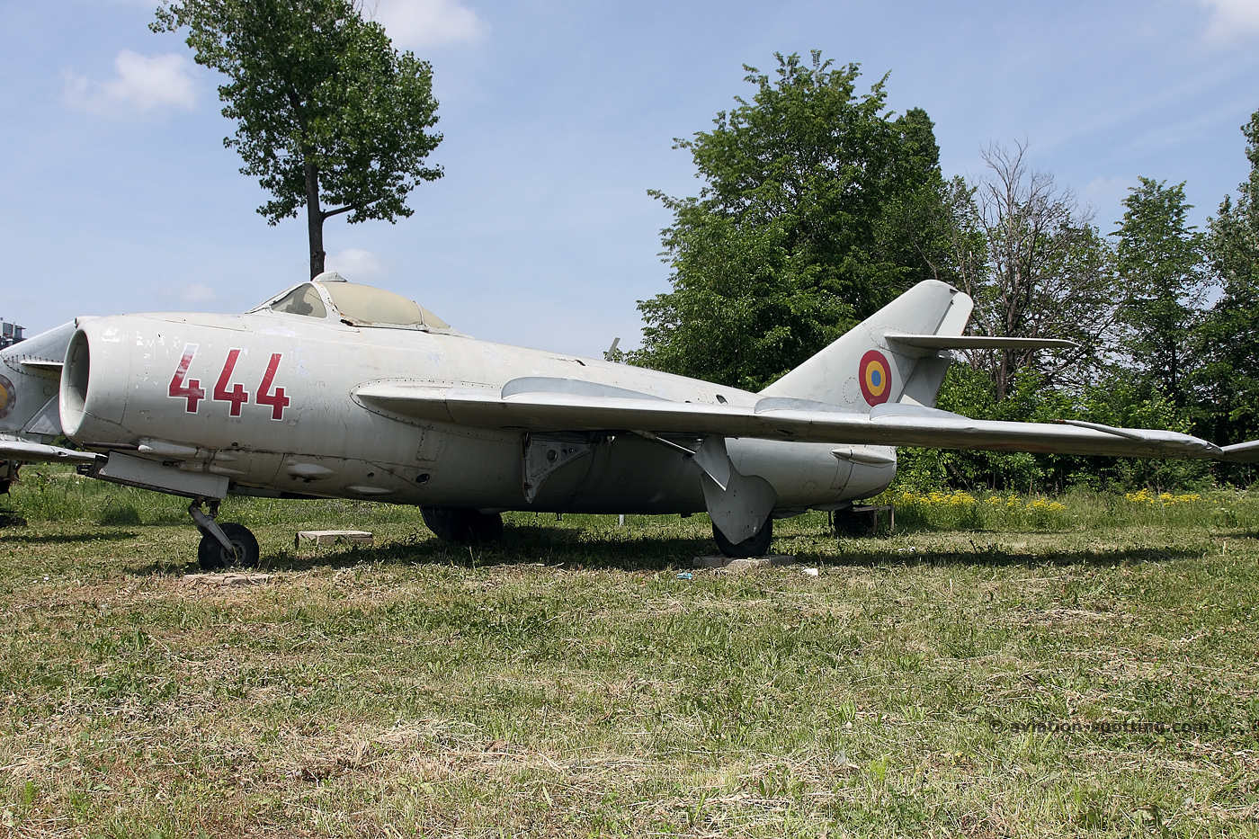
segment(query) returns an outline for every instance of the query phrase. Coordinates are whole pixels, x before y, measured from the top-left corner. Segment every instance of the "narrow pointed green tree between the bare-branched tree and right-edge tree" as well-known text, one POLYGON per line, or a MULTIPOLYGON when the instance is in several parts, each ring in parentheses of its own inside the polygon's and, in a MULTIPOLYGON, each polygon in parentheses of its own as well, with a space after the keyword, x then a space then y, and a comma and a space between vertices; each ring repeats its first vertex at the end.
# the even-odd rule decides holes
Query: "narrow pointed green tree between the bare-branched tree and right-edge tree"
POLYGON ((1194 339, 1209 285, 1202 234, 1188 224, 1185 184, 1141 179, 1123 205, 1118 272, 1123 283, 1119 320, 1126 326, 1124 372, 1129 384, 1162 393, 1173 404, 1188 398, 1196 359, 1194 339), (1133 377, 1136 374, 1136 377, 1133 377))

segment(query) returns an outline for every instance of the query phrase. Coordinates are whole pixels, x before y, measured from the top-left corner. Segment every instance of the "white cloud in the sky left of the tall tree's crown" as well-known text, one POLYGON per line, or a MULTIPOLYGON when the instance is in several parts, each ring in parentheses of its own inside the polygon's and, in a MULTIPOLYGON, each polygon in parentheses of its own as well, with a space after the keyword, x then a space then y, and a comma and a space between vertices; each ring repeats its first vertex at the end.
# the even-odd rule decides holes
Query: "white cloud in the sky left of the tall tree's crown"
POLYGON ((193 63, 175 53, 141 55, 123 49, 113 59, 116 76, 103 82, 67 71, 65 101, 92 113, 146 113, 155 108, 191 110, 196 105, 193 63))

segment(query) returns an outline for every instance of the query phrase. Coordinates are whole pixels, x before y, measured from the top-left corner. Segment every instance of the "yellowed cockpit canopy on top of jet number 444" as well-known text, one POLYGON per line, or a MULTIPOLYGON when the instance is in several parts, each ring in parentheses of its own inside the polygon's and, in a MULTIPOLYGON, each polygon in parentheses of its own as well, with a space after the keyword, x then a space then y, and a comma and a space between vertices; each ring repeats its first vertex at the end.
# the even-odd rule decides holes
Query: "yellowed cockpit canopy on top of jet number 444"
POLYGON ((452 331, 449 324, 414 300, 384 288, 346 282, 332 271, 325 271, 310 282, 303 282, 253 311, 263 310, 340 320, 351 326, 452 331))

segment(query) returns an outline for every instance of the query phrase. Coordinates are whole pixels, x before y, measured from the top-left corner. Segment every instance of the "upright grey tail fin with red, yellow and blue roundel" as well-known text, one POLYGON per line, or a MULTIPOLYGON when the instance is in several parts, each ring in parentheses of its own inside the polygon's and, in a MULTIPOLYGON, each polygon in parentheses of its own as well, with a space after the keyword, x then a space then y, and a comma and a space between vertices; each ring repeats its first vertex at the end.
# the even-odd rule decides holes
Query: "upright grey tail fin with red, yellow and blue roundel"
POLYGON ((762 396, 827 402, 869 413, 884 402, 934 407, 949 357, 888 335, 961 335, 971 297, 925 280, 762 391, 762 396))

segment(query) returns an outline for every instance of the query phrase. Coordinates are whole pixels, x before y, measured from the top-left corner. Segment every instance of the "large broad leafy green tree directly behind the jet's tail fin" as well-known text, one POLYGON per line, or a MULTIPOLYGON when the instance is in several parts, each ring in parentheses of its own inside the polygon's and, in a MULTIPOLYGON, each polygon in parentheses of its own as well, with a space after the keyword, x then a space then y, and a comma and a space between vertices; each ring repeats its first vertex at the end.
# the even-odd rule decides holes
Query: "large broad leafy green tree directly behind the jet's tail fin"
MULTIPOLYGON (((759 389, 918 280, 947 273, 944 184, 922 110, 889 113, 883 81, 812 53, 753 67, 752 102, 676 147, 705 181, 660 199, 672 291, 640 301, 638 364, 759 389)), ((946 277, 947 278, 947 277, 946 277)))

